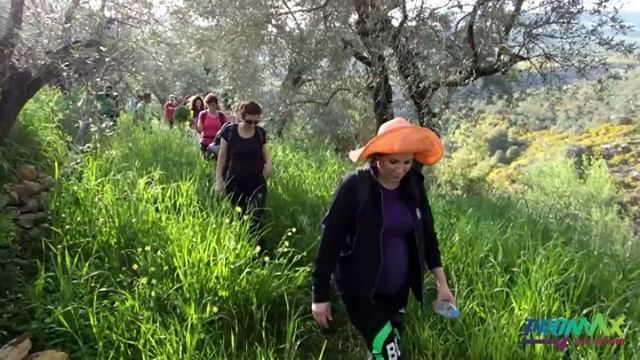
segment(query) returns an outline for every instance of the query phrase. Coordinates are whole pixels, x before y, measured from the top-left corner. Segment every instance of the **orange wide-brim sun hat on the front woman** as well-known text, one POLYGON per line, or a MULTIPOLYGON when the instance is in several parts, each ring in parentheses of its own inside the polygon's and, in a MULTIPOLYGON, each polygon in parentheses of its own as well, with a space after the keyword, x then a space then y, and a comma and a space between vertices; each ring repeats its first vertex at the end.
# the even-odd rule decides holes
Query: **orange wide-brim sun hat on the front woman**
POLYGON ((380 125, 378 134, 359 149, 349 152, 349 158, 367 160, 373 154, 414 154, 414 159, 433 165, 444 156, 442 140, 433 131, 395 118, 380 125))

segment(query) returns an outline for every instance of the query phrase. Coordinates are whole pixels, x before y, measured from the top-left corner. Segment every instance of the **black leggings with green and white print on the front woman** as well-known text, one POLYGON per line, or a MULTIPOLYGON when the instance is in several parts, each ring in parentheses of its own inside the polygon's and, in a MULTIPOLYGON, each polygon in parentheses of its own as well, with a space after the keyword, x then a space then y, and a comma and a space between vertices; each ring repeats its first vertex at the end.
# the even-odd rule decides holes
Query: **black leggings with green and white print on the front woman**
POLYGON ((402 336, 405 307, 409 288, 395 295, 376 295, 372 303, 368 297, 342 300, 353 326, 367 344, 369 359, 402 359, 398 341, 402 336))

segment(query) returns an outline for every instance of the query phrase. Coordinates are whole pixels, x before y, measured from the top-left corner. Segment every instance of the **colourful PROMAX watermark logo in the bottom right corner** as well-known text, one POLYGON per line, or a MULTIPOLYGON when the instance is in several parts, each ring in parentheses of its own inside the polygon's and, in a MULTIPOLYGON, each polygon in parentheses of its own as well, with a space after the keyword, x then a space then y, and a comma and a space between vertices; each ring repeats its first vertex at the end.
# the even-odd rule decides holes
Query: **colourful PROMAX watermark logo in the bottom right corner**
POLYGON ((607 319, 597 313, 591 319, 527 319, 521 344, 554 345, 564 351, 569 345, 622 345, 624 316, 607 319), (583 335, 584 334, 584 335, 583 335), (573 337, 569 337, 569 336, 573 337))

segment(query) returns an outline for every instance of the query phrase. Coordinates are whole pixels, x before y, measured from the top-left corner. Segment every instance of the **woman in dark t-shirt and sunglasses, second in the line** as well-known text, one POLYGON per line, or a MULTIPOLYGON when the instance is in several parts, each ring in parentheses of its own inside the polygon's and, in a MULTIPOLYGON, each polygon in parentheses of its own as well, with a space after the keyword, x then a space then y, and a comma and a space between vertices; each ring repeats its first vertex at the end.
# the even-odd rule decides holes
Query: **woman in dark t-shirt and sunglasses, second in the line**
MULTIPOLYGON (((225 127, 221 134, 216 191, 229 195, 243 213, 251 212, 251 229, 259 235, 267 198, 266 178, 273 170, 266 147, 267 132, 258 126, 262 107, 257 102, 243 103, 237 116, 238 123, 225 127)), ((258 245, 264 249, 261 240, 258 245)))

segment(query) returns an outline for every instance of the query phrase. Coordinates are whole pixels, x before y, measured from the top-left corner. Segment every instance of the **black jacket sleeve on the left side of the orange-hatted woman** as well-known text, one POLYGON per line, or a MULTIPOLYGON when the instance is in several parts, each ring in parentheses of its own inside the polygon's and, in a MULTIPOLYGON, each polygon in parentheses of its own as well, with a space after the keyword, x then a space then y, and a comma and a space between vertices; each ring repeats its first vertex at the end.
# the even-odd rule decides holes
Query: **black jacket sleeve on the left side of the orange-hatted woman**
POLYGON ((329 211, 322 220, 323 230, 311 273, 313 302, 329 301, 331 273, 336 266, 340 250, 355 221, 355 174, 345 177, 338 186, 329 211))

